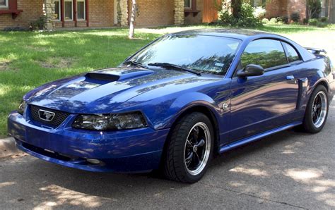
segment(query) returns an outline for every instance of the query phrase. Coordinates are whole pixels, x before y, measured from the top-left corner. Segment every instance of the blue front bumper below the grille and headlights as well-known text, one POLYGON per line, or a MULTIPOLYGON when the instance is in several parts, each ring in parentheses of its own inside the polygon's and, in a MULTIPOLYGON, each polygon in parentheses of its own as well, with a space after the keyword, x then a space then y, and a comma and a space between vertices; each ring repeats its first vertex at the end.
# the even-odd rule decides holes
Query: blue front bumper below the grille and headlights
POLYGON ((26 121, 16 111, 8 116, 8 132, 16 139, 18 149, 45 161, 86 171, 138 173, 156 169, 169 132, 152 128, 100 132, 78 130, 70 125, 67 121, 59 128, 43 128, 26 121), (88 159, 100 163, 93 164, 88 159))

